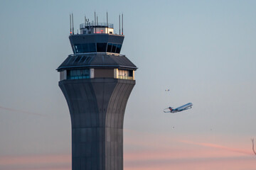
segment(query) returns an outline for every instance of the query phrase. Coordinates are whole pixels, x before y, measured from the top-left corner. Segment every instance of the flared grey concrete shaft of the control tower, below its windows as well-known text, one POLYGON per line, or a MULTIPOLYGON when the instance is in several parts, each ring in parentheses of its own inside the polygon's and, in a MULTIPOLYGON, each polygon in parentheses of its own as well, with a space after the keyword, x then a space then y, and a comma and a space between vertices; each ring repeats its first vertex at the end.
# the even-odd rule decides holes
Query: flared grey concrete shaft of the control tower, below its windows
POLYGON ((135 82, 124 79, 61 81, 72 123, 72 167, 123 169, 123 122, 135 82))

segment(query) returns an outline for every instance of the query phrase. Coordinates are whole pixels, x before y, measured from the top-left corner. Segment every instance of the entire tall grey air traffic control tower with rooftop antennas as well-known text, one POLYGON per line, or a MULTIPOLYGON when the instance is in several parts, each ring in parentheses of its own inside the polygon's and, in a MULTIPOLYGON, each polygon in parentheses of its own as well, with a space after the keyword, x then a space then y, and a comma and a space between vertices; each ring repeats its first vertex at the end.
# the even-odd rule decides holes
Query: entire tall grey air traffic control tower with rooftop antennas
POLYGON ((123 170, 124 111, 137 67, 119 54, 124 40, 120 16, 119 34, 113 24, 86 19, 80 34, 74 34, 72 18, 74 54, 57 69, 71 117, 72 169, 123 170))

